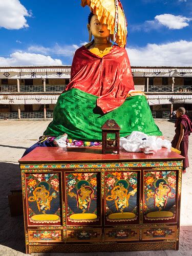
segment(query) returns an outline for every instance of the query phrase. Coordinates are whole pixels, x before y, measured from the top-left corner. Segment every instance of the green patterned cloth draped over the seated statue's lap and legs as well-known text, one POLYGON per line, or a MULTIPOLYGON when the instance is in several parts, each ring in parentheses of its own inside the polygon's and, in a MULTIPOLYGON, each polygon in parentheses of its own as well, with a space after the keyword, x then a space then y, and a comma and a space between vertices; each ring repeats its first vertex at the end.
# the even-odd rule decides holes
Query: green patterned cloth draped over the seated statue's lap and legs
POLYGON ((63 92, 57 100, 53 121, 44 135, 58 137, 67 133, 70 139, 101 141, 101 126, 106 120, 114 119, 121 127, 120 137, 130 135, 133 131, 162 136, 145 96, 126 98, 119 108, 103 115, 94 113, 97 98, 75 88, 63 92))

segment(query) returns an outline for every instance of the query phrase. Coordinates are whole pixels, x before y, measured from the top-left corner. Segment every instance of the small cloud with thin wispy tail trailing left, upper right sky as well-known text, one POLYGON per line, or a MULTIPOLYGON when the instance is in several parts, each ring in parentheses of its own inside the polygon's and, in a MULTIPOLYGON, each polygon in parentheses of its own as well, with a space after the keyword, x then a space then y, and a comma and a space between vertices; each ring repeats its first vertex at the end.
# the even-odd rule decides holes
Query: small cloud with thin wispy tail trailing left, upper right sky
POLYGON ((165 13, 155 16, 154 20, 146 20, 143 24, 132 25, 131 29, 134 31, 144 32, 158 30, 163 26, 167 27, 168 29, 182 29, 189 26, 189 22, 191 20, 192 18, 165 13))

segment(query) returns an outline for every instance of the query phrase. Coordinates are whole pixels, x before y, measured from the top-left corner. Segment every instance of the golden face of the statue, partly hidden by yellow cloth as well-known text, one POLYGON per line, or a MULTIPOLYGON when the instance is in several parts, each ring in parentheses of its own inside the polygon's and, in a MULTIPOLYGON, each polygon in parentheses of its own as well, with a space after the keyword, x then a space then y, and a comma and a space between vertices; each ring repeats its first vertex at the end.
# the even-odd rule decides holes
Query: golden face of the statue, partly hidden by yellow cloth
POLYGON ((110 30, 108 30, 108 26, 105 24, 101 24, 98 20, 97 15, 93 15, 93 17, 91 18, 91 23, 90 25, 88 25, 88 29, 90 29, 92 35, 98 39, 108 38, 108 36, 110 35, 110 30))

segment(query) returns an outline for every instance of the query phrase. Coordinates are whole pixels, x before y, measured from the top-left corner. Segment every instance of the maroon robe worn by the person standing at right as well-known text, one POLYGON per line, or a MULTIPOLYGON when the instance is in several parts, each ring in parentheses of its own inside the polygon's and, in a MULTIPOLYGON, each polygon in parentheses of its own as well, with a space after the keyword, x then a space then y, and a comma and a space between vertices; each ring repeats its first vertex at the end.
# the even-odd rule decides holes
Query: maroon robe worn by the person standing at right
POLYGON ((172 140, 172 146, 176 147, 177 146, 177 142, 179 140, 179 136, 180 136, 180 132, 181 132, 181 123, 184 126, 184 136, 183 139, 180 143, 180 151, 181 151, 181 155, 183 157, 185 157, 185 159, 183 160, 183 169, 185 170, 187 167, 189 167, 189 162, 188 162, 188 136, 190 135, 190 133, 192 132, 192 125, 191 125, 191 121, 188 118, 187 115, 182 115, 180 118, 177 119, 176 123, 175 123, 175 136, 172 140))

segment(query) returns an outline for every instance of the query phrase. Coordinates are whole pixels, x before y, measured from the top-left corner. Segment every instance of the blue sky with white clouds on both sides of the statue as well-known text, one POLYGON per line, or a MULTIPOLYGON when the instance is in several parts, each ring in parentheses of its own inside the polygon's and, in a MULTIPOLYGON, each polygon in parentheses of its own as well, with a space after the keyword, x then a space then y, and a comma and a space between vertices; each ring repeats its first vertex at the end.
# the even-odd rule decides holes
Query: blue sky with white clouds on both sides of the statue
MULTIPOLYGON (((80 0, 0 0, 0 66, 71 65, 88 41, 80 0)), ((192 66, 192 0, 121 0, 132 66, 192 66)))

